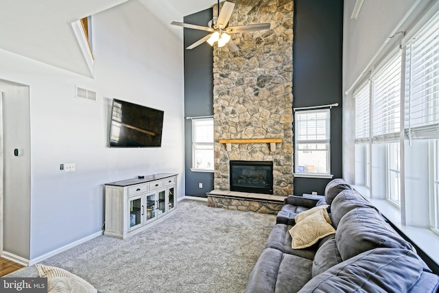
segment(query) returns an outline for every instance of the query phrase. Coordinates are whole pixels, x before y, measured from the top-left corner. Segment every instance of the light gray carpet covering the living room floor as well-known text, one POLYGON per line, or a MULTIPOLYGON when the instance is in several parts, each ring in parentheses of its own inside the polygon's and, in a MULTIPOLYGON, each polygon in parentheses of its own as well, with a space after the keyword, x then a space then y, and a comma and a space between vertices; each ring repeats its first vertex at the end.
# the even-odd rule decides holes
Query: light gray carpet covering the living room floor
MULTIPOLYGON (((145 231, 100 236, 42 263, 69 270, 104 292, 244 292, 276 217, 182 200, 145 231)), ((8 277, 35 277, 34 266, 8 277)))

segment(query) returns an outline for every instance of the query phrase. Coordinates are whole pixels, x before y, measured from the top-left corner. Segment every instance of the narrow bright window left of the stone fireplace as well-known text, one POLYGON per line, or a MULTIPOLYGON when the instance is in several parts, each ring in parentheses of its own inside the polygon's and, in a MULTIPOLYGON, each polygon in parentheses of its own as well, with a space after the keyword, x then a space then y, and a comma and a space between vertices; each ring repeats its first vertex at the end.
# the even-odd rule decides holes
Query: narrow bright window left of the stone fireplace
POLYGON ((213 171, 213 118, 192 119, 192 171, 213 171))

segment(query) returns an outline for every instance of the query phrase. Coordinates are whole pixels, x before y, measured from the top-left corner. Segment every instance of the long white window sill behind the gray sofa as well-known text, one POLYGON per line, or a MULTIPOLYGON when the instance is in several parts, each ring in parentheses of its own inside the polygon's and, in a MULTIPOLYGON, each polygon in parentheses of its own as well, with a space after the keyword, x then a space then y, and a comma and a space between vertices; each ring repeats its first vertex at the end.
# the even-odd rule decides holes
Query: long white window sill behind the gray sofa
POLYGON ((366 200, 372 203, 396 228, 407 236, 416 246, 439 264, 439 235, 429 228, 418 228, 401 224, 401 211, 387 200, 370 198, 369 190, 363 186, 353 186, 366 200))

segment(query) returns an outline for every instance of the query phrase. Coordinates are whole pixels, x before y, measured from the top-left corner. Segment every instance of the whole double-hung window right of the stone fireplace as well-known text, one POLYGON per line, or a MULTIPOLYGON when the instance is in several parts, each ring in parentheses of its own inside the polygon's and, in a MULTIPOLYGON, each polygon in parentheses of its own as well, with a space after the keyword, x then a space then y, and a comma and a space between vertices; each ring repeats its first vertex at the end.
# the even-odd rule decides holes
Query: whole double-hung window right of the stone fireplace
POLYGON ((330 110, 295 113, 295 165, 297 174, 330 174, 330 110))

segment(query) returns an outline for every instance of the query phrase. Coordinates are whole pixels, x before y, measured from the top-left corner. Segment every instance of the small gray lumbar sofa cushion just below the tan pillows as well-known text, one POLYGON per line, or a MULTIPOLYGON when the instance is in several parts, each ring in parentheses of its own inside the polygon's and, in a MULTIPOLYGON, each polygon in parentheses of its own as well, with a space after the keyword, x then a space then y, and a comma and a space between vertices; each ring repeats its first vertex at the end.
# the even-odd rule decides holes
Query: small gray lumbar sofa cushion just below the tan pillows
POLYGON ((332 235, 332 238, 324 242, 316 252, 316 256, 313 259, 313 277, 316 277, 318 274, 321 274, 342 261, 340 252, 337 249, 337 244, 335 243, 335 235, 332 235))

